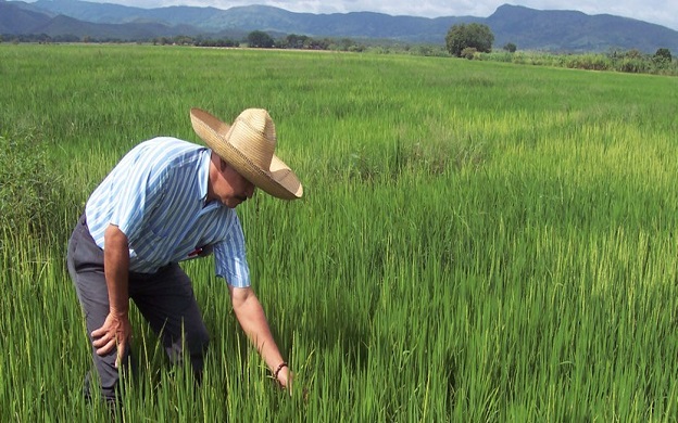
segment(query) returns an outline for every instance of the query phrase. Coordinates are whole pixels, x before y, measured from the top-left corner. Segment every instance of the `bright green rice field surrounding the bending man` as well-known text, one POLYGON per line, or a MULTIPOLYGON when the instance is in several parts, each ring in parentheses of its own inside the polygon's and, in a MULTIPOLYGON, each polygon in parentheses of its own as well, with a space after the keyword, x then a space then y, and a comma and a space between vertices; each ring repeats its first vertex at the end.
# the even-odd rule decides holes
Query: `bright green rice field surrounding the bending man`
POLYGON ((133 306, 121 421, 678 420, 678 78, 0 44, 0 421, 106 421, 81 395, 65 245, 128 149, 200 142, 193 106, 267 108, 304 183, 238 208, 294 386, 248 345, 211 259, 191 261, 203 384, 133 306))

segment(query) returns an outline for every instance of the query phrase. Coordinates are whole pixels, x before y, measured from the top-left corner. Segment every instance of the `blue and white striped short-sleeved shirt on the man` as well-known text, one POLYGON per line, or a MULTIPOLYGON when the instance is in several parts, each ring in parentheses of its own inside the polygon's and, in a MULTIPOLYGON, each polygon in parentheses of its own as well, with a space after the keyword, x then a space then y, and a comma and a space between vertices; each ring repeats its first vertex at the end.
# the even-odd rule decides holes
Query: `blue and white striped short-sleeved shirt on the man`
POLYGON ((206 202, 211 150, 176 138, 145 141, 95 190, 85 209, 89 231, 105 248, 114 225, 129 243, 129 270, 153 273, 214 248, 215 271, 249 286, 244 235, 233 208, 206 202))

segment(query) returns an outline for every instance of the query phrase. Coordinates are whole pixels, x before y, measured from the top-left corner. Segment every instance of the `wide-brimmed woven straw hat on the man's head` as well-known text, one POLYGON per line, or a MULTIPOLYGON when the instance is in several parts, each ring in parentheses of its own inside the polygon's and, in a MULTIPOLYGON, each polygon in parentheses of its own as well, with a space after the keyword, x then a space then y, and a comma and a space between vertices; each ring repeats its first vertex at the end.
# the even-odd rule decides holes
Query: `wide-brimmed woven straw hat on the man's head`
POLYGON ((297 175, 274 154, 275 125, 268 112, 248 108, 231 126, 200 108, 191 108, 190 115, 196 133, 255 187, 278 198, 301 197, 297 175))

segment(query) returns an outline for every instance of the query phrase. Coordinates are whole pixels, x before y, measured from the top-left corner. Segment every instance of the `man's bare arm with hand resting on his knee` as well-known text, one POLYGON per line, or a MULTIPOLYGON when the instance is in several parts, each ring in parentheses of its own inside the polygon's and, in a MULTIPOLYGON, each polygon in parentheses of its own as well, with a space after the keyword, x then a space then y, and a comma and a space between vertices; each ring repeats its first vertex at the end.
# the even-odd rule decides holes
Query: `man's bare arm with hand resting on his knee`
POLYGON ((101 328, 92 331, 91 337, 92 345, 100 356, 105 356, 117 346, 117 366, 131 333, 127 316, 129 310, 129 244, 127 236, 114 225, 106 228, 103 239, 103 269, 109 289, 109 316, 101 328))

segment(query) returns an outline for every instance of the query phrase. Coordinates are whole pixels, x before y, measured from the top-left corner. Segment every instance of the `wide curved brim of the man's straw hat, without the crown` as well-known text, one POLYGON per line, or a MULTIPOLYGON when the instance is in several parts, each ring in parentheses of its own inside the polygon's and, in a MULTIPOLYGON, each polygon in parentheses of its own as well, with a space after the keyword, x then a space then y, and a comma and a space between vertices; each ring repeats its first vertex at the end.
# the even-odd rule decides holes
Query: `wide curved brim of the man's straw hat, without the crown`
POLYGON ((274 154, 269 168, 262 169, 227 141, 229 125, 200 108, 191 108, 190 116, 193 130, 205 144, 256 188, 282 200, 301 198, 301 181, 278 156, 274 154))

